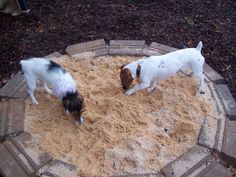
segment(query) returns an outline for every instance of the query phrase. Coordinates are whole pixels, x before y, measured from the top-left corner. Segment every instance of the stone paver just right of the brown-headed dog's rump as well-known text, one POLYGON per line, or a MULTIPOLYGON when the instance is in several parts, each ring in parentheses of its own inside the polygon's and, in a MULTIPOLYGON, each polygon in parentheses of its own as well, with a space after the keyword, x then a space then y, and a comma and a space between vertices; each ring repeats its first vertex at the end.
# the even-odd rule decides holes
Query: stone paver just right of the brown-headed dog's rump
POLYGON ((215 70, 213 70, 208 64, 204 64, 203 72, 207 76, 207 78, 214 82, 215 84, 222 84, 224 83, 224 78, 219 75, 215 70))

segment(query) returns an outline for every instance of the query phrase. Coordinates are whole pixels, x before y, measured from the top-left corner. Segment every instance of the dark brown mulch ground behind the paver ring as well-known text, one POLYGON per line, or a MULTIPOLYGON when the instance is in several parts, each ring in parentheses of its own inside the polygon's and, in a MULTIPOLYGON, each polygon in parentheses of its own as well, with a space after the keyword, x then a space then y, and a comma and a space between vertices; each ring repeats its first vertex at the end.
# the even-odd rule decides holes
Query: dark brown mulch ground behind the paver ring
POLYGON ((95 39, 146 40, 176 48, 201 40, 206 62, 236 98, 236 2, 233 0, 29 0, 29 14, 0 14, 0 87, 19 60, 65 53, 95 39))

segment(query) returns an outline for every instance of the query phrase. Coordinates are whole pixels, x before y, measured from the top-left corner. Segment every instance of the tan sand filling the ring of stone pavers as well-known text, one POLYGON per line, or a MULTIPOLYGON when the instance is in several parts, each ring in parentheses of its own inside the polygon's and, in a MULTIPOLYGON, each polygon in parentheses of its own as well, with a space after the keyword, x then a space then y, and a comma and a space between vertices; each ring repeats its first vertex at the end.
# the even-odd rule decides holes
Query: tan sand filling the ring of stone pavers
POLYGON ((38 92, 39 105, 26 104, 25 129, 53 157, 75 164, 81 176, 158 171, 197 142, 203 118, 216 115, 206 90, 196 96, 195 80, 176 75, 146 91, 126 96, 119 67, 137 57, 71 60, 63 65, 85 98, 84 124, 65 116, 62 104, 38 92))

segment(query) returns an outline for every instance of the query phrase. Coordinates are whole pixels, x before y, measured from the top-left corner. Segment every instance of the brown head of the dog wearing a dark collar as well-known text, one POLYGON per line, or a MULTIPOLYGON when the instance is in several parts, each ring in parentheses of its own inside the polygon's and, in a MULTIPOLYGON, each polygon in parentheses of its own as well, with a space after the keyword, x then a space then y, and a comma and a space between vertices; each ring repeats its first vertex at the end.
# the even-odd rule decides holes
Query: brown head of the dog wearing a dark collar
POLYGON ((120 67, 120 80, 123 90, 127 90, 131 86, 134 79, 131 71, 128 68, 124 68, 124 66, 125 65, 120 67))

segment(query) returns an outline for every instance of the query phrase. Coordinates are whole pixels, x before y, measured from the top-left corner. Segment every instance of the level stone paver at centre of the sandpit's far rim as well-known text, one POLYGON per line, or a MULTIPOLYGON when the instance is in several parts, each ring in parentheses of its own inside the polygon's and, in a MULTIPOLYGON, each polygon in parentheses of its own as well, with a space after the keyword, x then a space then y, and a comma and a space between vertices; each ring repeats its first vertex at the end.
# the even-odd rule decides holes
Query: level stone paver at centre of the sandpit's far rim
POLYGON ((143 55, 145 41, 143 40, 111 40, 110 55, 143 55))

